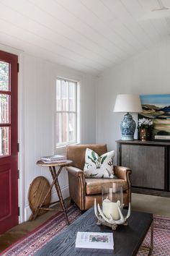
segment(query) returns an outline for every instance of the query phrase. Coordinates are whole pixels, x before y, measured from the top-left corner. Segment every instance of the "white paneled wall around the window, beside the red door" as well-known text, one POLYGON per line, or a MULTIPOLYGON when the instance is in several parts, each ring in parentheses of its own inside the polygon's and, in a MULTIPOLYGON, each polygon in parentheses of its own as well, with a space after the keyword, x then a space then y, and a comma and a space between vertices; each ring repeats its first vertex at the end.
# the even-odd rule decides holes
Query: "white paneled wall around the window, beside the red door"
MULTIPOLYGON (((94 77, 49 61, 22 54, 19 56, 19 169, 21 221, 30 216, 27 200, 30 183, 36 176, 51 181, 48 168, 36 166, 42 155, 54 153, 55 81, 65 77, 80 82, 81 142, 96 142, 96 97, 94 77)), ((60 152, 61 153, 61 152, 60 152)), ((63 197, 68 197, 66 171, 59 176, 63 197)), ((53 200, 56 200, 53 189, 53 200)))

